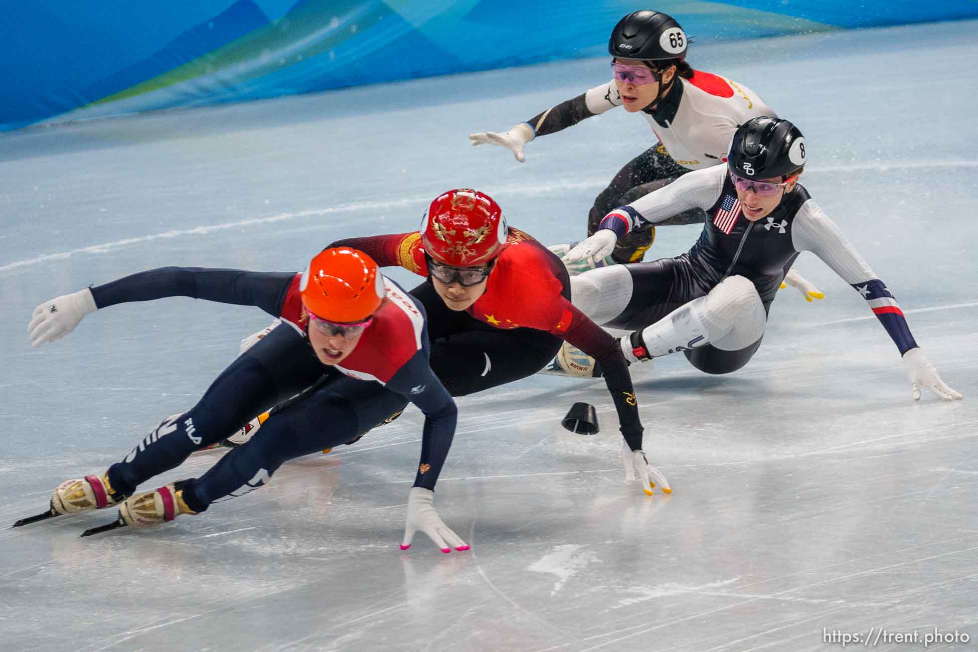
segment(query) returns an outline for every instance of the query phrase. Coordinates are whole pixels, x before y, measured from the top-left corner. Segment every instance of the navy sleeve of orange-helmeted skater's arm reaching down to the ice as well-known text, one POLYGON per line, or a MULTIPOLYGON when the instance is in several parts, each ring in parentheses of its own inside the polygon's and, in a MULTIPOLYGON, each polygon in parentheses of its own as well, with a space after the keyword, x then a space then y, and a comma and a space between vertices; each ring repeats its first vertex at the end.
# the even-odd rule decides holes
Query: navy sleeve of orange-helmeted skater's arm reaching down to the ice
POLYGON ((415 487, 434 490, 441 467, 455 438, 458 410, 441 381, 431 370, 424 350, 397 370, 387 389, 402 394, 424 413, 422 458, 415 475, 415 487))

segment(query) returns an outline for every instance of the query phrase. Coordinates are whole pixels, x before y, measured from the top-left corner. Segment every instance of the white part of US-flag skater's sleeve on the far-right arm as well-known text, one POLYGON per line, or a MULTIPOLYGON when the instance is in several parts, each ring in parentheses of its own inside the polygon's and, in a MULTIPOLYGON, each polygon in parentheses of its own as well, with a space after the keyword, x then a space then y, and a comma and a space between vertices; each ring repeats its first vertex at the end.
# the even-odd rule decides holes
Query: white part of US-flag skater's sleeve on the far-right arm
POLYGON ((815 202, 801 205, 791 226, 791 239, 798 251, 811 251, 849 284, 878 279, 856 247, 815 202))

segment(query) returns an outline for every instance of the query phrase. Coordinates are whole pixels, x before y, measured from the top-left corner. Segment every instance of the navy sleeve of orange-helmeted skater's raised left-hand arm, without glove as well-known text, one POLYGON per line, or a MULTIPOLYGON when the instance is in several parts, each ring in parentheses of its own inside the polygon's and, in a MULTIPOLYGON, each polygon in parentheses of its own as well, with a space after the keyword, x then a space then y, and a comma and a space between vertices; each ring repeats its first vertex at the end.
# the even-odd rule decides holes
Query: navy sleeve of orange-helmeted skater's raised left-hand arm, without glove
POLYGON ((269 315, 279 317, 294 278, 294 272, 160 267, 91 289, 99 308, 166 296, 190 296, 239 306, 257 306, 269 315))

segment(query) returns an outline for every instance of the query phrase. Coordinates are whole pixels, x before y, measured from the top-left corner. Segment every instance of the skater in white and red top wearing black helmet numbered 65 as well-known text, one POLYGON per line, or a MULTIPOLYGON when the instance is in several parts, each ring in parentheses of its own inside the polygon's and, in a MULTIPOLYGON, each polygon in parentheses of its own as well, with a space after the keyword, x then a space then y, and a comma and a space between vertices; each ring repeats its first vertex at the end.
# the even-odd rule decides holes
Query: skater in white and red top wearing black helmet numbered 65
MULTIPOLYGON (((650 10, 632 12, 614 26, 608 39, 610 81, 520 122, 510 131, 479 132, 469 134, 468 139, 472 145, 505 147, 522 162, 530 141, 593 115, 622 107, 645 117, 658 143, 626 163, 595 197, 588 214, 588 235, 593 235, 608 211, 662 188, 690 170, 723 162, 737 126, 752 117, 775 115, 743 84, 693 69, 686 61, 688 46, 686 32, 671 16, 650 10)), ((659 224, 691 224, 703 219, 702 210, 694 208, 663 216, 659 224)), ((589 269, 589 265, 640 262, 654 238, 654 227, 634 231, 597 263, 564 262, 571 275, 589 269)), ((568 248, 559 245, 551 250, 560 256, 568 248)))

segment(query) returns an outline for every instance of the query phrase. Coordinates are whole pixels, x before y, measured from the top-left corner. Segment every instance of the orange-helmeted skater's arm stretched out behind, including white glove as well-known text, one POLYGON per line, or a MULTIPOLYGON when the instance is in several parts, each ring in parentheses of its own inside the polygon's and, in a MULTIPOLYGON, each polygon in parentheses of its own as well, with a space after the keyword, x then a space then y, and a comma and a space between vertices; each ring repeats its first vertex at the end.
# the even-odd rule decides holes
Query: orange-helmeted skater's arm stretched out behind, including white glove
POLYGON ((291 272, 160 267, 45 301, 34 309, 27 332, 31 346, 38 347, 64 337, 100 308, 167 296, 257 306, 279 317, 294 278, 291 272))

